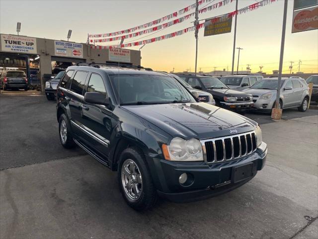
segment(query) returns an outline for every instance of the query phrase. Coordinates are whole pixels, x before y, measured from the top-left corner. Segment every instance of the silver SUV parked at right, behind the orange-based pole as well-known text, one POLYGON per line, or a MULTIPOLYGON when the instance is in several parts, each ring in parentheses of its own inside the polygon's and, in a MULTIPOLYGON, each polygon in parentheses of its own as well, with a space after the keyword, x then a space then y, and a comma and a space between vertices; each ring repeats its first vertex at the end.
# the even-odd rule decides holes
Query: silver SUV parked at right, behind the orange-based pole
MULTIPOLYGON (((271 112, 275 107, 278 79, 265 78, 243 92, 253 95, 254 110, 271 112)), ((305 112, 309 101, 309 87, 302 78, 282 78, 280 85, 281 109, 298 107, 305 112)))

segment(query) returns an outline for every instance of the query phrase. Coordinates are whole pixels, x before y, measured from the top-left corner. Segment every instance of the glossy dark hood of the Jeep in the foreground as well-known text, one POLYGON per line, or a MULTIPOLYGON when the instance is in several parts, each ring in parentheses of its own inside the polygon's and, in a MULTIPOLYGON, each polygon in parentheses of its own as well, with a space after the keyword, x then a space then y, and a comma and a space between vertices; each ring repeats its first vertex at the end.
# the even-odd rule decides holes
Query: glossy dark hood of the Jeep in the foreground
POLYGON ((172 137, 212 138, 251 131, 257 123, 234 112, 206 103, 177 103, 122 106, 125 110, 155 124, 172 137))

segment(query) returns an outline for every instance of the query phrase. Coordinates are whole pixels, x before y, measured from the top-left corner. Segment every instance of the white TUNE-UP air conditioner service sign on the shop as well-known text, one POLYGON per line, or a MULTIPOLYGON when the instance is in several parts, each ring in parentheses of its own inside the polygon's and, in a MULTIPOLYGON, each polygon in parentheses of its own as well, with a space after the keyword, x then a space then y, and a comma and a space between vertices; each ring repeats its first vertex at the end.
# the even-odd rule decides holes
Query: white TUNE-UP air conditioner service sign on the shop
POLYGON ((1 34, 1 51, 37 54, 36 39, 27 36, 1 34))

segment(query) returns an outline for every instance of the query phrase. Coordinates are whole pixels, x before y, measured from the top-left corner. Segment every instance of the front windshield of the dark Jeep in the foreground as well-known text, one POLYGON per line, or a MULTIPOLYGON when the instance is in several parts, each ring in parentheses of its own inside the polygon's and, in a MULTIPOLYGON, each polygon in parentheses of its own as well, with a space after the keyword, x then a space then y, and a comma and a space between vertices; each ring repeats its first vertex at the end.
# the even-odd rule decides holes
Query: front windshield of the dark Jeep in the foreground
POLYGON ((196 102, 176 79, 169 76, 110 75, 110 80, 121 105, 196 102))

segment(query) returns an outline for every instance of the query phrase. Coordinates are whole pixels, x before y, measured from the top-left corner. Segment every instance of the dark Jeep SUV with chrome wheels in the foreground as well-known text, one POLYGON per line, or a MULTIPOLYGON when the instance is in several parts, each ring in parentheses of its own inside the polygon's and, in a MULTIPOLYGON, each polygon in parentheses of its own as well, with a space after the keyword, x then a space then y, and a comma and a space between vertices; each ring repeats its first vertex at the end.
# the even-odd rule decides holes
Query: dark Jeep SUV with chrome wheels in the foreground
POLYGON ((142 67, 69 67, 57 90, 57 120, 62 145, 78 144, 118 171, 136 210, 158 196, 189 202, 226 193, 266 160, 256 122, 197 102, 173 77, 142 67))

